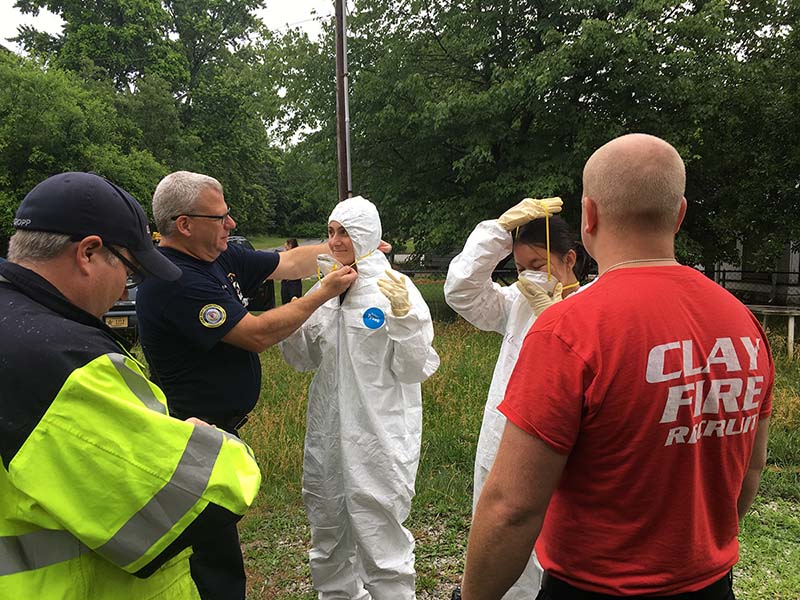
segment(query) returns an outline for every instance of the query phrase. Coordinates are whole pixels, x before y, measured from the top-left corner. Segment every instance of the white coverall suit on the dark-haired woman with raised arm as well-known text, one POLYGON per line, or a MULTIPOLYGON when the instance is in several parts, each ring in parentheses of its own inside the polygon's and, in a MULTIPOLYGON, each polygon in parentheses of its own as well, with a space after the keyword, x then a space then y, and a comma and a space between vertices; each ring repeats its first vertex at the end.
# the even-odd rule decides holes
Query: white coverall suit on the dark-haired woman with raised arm
MULTIPOLYGON (((506 425, 506 418, 497 410, 497 406, 505 395, 525 334, 535 319, 528 300, 516 285, 504 287, 492 281, 492 272, 501 260, 511 254, 512 247, 511 233, 501 227, 497 220, 479 223, 467 238, 464 249, 450 262, 444 284, 445 300, 453 310, 478 329, 503 335, 478 437, 473 513, 506 425)), ((532 554, 525 571, 503 596, 504 600, 534 598, 540 587, 541 576, 542 568, 532 554)))

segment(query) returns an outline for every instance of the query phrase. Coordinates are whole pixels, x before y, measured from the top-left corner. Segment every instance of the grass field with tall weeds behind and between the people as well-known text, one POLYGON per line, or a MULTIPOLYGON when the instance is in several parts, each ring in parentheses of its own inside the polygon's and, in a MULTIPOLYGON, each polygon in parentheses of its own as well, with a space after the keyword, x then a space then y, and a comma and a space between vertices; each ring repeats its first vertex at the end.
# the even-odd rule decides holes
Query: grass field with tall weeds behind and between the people
MULTIPOLYGON (((417 540, 418 598, 446 599, 463 568, 475 445, 500 337, 456 319, 444 304, 441 282, 417 285, 437 318, 434 346, 442 363, 423 384, 422 457, 407 526, 417 540)), ((771 339, 778 354, 785 340, 771 339)), ((262 355, 262 365, 261 400, 242 431, 264 475, 240 527, 248 599, 312 600, 300 498, 311 374, 292 371, 276 348, 262 355)), ((779 358, 777 369, 769 467, 743 522, 734 570, 739 600, 800 599, 800 362, 779 358)))

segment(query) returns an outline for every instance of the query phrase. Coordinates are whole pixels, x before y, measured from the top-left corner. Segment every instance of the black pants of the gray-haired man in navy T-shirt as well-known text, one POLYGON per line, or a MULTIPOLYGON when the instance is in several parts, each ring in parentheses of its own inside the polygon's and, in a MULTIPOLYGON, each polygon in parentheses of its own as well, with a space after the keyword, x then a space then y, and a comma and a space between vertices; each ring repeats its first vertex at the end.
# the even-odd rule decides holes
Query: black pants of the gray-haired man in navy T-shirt
MULTIPOLYGON (((186 417, 176 416, 181 420, 186 417)), ((228 433, 239 435, 235 425, 241 416, 201 415, 199 419, 216 425, 228 433)), ((209 536, 193 545, 189 558, 192 579, 203 600, 244 600, 246 576, 239 531, 236 523, 209 532, 209 536)))

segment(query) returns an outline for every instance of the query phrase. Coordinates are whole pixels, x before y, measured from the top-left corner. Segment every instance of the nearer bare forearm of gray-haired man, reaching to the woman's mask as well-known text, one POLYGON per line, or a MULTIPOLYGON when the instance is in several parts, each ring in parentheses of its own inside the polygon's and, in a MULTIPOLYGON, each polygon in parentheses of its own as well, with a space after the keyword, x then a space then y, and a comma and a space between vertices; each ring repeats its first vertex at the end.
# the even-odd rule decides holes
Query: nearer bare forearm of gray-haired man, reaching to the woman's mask
POLYGON ((344 292, 357 277, 358 273, 350 267, 337 269, 326 275, 316 290, 294 302, 258 316, 246 314, 222 341, 250 352, 263 352, 289 337, 315 310, 344 292))

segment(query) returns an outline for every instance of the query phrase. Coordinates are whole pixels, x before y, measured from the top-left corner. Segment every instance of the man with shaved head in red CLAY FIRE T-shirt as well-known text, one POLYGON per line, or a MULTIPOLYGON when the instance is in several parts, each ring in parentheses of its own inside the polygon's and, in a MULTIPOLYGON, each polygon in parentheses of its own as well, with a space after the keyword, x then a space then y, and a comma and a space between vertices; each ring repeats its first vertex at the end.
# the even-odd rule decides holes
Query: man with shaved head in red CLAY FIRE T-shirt
POLYGON ((650 135, 587 161, 581 236, 600 275, 523 343, 464 600, 500 598, 534 543, 540 600, 733 599, 774 364, 750 311, 675 260, 685 185, 678 152, 650 135))

